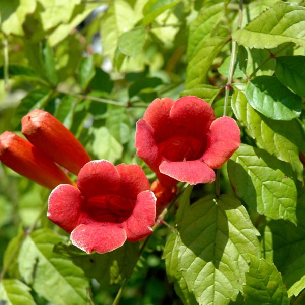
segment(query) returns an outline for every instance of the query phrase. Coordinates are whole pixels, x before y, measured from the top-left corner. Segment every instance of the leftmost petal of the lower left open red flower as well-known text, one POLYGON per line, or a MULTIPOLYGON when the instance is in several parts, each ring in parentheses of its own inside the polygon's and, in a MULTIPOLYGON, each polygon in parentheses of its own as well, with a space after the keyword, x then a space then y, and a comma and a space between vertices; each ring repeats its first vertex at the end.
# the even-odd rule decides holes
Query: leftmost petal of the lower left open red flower
POLYGON ((82 201, 77 188, 68 184, 59 185, 49 196, 47 217, 70 233, 78 225, 82 201))

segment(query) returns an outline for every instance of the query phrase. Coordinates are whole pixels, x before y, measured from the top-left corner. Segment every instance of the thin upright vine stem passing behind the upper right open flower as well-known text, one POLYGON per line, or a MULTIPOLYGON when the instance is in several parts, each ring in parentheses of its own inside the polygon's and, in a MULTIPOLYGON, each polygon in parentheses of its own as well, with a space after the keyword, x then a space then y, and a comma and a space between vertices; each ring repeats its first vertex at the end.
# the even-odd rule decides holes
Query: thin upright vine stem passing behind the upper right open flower
MULTIPOLYGON (((239 29, 242 24, 242 10, 243 10, 243 1, 239 0, 237 29, 239 29)), ((233 79, 233 74, 234 74, 234 65, 235 65, 235 61, 236 61, 236 49, 237 49, 237 42, 232 41, 229 75, 228 75, 227 84, 225 85, 225 103, 224 103, 223 116, 226 116, 227 111, 228 111, 229 93, 230 93, 230 89, 231 89, 231 84, 232 84, 232 79, 233 79)), ((220 194, 220 169, 217 169, 217 171, 216 171, 216 195, 219 196, 219 194, 220 194)))

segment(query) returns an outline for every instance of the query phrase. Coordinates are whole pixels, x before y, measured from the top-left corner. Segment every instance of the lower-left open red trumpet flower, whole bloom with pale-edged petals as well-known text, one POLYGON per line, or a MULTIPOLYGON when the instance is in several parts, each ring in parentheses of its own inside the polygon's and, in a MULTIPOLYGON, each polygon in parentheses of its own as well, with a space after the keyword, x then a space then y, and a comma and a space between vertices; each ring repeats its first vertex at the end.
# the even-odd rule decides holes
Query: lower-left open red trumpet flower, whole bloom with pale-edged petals
POLYGON ((86 253, 109 252, 126 239, 136 241, 153 232, 156 197, 138 165, 91 161, 80 170, 77 187, 56 187, 47 216, 71 232, 73 245, 86 253))

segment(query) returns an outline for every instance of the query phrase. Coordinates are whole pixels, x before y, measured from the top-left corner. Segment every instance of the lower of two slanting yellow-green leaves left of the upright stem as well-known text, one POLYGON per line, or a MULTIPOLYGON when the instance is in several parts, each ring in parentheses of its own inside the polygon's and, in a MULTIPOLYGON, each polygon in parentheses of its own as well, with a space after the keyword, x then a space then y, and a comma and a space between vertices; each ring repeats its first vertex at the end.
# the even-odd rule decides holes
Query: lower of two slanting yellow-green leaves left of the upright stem
POLYGON ((187 66, 186 89, 192 89, 205 81, 214 58, 225 43, 226 39, 219 37, 207 38, 201 42, 201 47, 187 66))

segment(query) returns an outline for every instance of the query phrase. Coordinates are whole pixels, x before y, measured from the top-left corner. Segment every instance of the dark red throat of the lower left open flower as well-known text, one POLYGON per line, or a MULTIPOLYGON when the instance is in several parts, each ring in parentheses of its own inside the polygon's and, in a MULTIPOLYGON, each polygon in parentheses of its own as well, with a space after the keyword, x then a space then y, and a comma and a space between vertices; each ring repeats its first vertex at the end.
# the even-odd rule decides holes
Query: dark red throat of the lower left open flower
POLYGON ((95 221, 121 223, 130 217, 134 206, 132 199, 119 195, 104 195, 87 199, 82 210, 95 221))

